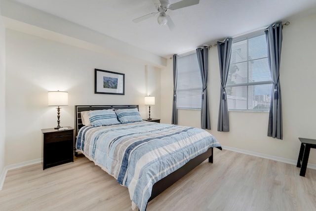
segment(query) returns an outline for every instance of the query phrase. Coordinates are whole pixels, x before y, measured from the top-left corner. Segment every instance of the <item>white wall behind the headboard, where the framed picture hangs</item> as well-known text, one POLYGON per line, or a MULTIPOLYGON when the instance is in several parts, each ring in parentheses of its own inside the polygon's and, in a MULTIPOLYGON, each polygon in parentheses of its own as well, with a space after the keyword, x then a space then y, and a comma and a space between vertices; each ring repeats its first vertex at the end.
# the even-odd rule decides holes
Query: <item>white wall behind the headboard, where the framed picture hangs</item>
MULTIPOLYGON (((69 92, 69 106, 61 109, 64 127, 74 126, 74 105, 139 104, 145 118, 146 81, 155 82, 150 89, 160 101, 158 70, 118 55, 7 29, 5 165, 41 158, 40 129, 57 126, 56 109, 47 106, 47 91, 69 92), (125 95, 94 94, 94 68, 124 73, 125 95), (147 79, 146 69, 151 72, 147 79)), ((159 104, 152 115, 160 117, 159 104)))

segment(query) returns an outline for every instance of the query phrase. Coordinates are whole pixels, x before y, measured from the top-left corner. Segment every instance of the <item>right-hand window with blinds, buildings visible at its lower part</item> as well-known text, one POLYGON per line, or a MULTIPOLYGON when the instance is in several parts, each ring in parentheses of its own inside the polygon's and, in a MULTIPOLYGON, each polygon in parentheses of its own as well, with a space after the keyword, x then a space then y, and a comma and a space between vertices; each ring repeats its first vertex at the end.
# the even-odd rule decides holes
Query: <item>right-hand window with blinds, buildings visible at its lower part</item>
POLYGON ((272 79, 264 31, 233 39, 226 83, 228 109, 269 111, 272 79))

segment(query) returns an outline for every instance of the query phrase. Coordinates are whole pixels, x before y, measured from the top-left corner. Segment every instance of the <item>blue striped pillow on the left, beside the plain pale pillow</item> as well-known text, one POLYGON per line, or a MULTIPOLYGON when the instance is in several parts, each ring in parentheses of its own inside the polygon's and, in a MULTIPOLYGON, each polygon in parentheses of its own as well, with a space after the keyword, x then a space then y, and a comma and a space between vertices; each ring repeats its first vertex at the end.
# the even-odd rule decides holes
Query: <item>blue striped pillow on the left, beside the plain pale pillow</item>
POLYGON ((110 126, 120 124, 115 111, 112 109, 89 112, 89 120, 92 126, 110 126))

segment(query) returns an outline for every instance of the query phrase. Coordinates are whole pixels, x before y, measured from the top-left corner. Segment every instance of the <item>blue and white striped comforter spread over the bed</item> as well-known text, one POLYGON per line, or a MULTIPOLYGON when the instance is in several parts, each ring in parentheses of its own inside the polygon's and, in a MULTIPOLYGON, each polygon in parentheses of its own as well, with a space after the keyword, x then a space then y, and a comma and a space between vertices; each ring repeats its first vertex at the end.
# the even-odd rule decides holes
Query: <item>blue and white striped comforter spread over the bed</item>
POLYGON ((77 149, 126 186, 136 206, 145 211, 153 185, 191 159, 220 143, 209 132, 151 122, 105 127, 84 126, 77 149))

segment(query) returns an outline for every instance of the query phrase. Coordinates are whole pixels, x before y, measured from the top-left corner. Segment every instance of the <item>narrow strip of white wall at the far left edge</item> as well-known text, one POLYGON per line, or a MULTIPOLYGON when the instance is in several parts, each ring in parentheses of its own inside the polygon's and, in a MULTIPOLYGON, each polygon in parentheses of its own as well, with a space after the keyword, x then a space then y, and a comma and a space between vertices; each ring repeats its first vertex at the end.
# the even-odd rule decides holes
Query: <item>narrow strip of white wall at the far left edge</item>
MULTIPOLYGON (((4 168, 5 142, 5 28, 0 14, 0 177, 4 168)), ((0 184, 1 186, 1 184, 0 184)), ((0 187, 1 188, 1 187, 0 187)))

